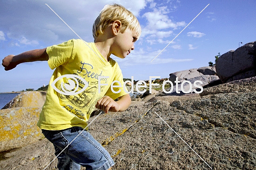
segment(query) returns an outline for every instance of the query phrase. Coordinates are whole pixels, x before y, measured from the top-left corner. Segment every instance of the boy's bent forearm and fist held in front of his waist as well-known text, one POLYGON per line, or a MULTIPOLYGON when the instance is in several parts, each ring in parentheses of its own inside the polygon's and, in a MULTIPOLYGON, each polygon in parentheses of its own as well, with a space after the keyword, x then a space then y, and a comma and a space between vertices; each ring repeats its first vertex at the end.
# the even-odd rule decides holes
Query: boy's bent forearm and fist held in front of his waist
POLYGON ((125 111, 131 104, 131 97, 129 94, 123 95, 118 99, 118 101, 115 101, 109 96, 103 96, 97 101, 95 107, 107 113, 108 111, 125 111))

